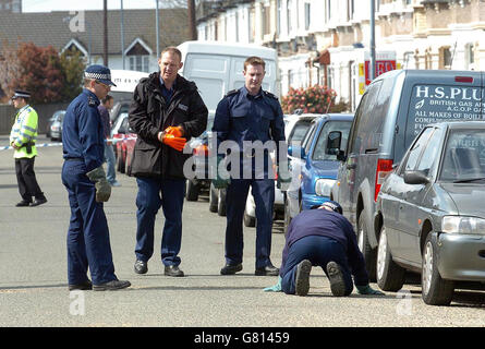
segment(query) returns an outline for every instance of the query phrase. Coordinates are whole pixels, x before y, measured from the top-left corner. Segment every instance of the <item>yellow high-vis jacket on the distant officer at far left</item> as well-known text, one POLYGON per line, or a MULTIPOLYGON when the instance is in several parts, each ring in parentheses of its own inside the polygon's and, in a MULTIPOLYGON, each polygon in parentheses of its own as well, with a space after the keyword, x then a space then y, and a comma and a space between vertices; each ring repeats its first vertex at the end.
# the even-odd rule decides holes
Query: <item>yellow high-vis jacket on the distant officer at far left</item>
POLYGON ((13 153, 14 158, 33 158, 37 155, 35 142, 37 141, 38 116, 31 106, 25 106, 15 116, 12 131, 10 132, 10 144, 15 143, 21 147, 13 153))

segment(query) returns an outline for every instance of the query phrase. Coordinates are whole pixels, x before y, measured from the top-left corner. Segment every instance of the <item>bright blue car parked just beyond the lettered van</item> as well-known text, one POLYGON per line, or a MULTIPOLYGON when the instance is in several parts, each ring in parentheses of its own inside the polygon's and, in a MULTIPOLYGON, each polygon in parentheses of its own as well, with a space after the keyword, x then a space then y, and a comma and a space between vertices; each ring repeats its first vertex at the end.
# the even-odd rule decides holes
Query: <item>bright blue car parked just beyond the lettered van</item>
POLYGON ((326 152, 328 133, 340 131, 341 147, 344 147, 352 120, 353 115, 350 113, 318 116, 301 146, 289 144, 291 183, 284 195, 284 231, 300 212, 329 200, 340 163, 337 155, 326 152))

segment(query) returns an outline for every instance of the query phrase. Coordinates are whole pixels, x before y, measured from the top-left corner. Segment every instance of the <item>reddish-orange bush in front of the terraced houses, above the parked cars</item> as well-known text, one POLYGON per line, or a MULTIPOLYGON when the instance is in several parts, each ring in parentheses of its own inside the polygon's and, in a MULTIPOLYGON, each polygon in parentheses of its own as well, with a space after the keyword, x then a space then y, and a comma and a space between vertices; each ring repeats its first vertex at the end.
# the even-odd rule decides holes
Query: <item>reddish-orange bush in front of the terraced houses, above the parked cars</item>
POLYGON ((290 87, 288 95, 281 98, 281 108, 284 113, 293 113, 296 109, 305 113, 324 113, 331 111, 336 97, 337 93, 327 86, 290 87))

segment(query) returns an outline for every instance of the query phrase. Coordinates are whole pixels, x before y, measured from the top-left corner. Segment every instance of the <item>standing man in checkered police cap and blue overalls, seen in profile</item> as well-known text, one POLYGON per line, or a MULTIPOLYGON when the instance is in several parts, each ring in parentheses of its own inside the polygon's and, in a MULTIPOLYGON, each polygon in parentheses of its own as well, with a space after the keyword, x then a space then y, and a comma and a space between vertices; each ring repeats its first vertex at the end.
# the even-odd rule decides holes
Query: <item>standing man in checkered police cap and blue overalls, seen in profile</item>
POLYGON ((114 275, 108 221, 104 202, 111 186, 106 180, 104 129, 99 100, 110 92, 110 70, 90 65, 84 73, 84 89, 69 105, 62 130, 62 183, 68 190, 71 220, 68 230, 68 278, 70 290, 116 290, 129 281, 114 275), (92 279, 87 277, 89 268, 92 279))

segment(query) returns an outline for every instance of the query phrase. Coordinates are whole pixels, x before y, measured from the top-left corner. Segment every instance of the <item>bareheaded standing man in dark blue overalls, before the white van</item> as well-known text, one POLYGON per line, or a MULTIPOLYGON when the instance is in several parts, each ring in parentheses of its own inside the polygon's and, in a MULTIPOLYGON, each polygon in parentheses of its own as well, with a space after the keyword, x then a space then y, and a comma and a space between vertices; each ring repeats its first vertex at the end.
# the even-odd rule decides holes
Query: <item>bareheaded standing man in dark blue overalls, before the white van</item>
MULTIPOLYGON (((227 228, 226 228, 226 265, 221 275, 232 275, 242 270, 243 256, 243 215, 247 193, 252 193, 256 204, 256 270, 255 275, 278 275, 270 261, 272 207, 275 202, 275 180, 272 164, 268 159, 268 149, 263 151, 264 166, 258 169, 260 159, 255 154, 258 141, 265 144, 284 142, 284 123, 278 98, 262 89, 265 76, 265 61, 250 57, 244 62, 244 86, 228 93, 217 106, 213 132, 217 136, 217 148, 221 149, 225 141, 232 141, 238 149, 232 149, 230 157, 238 158, 239 164, 231 163, 230 180, 213 180, 216 188, 227 186, 227 228), (247 151, 247 144, 254 148, 247 151), (235 157, 234 157, 235 155, 235 157), (239 165, 239 166, 235 166, 239 165), (234 170, 239 167, 239 171, 234 170)), ((220 153, 220 152, 219 152, 220 153)), ((286 152, 284 152, 286 153, 286 152)), ((222 156, 218 156, 218 164, 222 156)), ((276 157, 277 164, 279 156, 276 157)), ((218 168, 220 168, 218 166, 218 168)))

